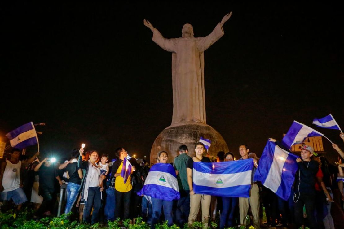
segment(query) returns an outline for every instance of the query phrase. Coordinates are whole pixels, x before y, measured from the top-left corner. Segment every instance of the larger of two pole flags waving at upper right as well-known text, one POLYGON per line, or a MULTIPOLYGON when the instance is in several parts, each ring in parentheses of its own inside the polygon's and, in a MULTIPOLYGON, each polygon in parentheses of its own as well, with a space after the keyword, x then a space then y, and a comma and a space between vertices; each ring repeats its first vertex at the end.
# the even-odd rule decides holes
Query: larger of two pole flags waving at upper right
POLYGON ((294 121, 288 130, 288 133, 283 137, 282 144, 290 149, 294 144, 300 144, 307 137, 312 136, 324 136, 319 131, 312 129, 309 126, 303 125, 299 122, 294 121))

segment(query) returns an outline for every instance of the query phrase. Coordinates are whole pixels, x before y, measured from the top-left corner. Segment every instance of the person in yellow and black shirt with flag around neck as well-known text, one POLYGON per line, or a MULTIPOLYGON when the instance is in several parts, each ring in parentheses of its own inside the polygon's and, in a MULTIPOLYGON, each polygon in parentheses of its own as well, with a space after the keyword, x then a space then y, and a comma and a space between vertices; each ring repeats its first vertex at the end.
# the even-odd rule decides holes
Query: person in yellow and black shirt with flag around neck
POLYGON ((121 217, 123 212, 124 219, 130 218, 130 198, 131 198, 131 173, 135 171, 135 167, 132 167, 130 162, 126 159, 128 152, 124 148, 117 148, 116 155, 119 160, 116 160, 112 165, 113 176, 115 180, 115 219, 121 217), (123 206, 123 207, 122 207, 123 206), (124 210, 123 210, 124 208, 124 210))

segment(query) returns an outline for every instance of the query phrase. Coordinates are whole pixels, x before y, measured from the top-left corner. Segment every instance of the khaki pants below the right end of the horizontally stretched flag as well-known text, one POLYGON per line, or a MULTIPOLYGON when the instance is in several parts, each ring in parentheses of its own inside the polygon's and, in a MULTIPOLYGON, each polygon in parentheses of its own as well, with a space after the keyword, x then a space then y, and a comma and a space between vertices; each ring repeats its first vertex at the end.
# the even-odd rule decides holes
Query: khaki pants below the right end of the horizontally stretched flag
POLYGON ((239 197, 240 224, 246 226, 246 216, 248 203, 251 205, 253 215, 253 226, 260 229, 259 219, 259 187, 257 184, 251 185, 250 198, 239 197))

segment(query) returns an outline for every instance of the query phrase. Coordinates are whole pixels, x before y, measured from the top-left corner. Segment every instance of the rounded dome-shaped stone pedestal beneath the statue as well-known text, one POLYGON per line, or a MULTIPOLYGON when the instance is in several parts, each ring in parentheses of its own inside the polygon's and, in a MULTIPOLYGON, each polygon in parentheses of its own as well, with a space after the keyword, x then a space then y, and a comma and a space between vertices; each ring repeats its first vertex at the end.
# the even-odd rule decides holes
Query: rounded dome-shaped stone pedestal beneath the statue
MULTIPOLYGON (((158 157, 158 153, 162 150, 168 152, 168 162, 173 162, 173 159, 179 155, 180 145, 186 145, 189 149, 189 156, 193 157, 195 155, 195 143, 200 140, 200 137, 208 138, 212 141, 209 148, 211 157, 216 157, 218 151, 228 152, 225 140, 213 127, 203 123, 185 122, 171 125, 161 131, 153 143, 150 162, 155 163, 155 158, 158 157)), ((205 154, 206 152, 203 156, 205 154)))

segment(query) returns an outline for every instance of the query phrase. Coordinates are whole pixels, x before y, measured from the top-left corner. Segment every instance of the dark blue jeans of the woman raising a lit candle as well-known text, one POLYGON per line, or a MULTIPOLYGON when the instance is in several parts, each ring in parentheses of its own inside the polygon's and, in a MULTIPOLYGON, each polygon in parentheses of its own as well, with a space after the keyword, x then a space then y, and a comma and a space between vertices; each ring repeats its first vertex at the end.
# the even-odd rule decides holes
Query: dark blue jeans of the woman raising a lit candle
POLYGON ((99 215, 100 207, 101 207, 100 187, 89 187, 87 201, 85 199, 84 221, 86 221, 87 223, 91 223, 91 225, 98 222, 99 221, 98 215, 99 215), (92 213, 92 221, 91 221, 90 217, 91 217, 92 207, 93 207, 93 213, 92 213))

